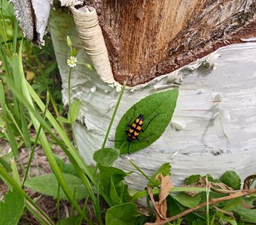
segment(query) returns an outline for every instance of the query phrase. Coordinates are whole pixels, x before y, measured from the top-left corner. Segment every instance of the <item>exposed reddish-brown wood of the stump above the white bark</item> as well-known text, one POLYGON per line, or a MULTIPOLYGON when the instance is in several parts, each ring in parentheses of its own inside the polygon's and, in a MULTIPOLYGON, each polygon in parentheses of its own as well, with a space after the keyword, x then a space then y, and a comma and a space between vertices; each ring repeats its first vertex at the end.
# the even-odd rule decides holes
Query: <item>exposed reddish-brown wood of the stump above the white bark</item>
POLYGON ((256 35, 254 0, 98 0, 114 78, 145 83, 256 35))

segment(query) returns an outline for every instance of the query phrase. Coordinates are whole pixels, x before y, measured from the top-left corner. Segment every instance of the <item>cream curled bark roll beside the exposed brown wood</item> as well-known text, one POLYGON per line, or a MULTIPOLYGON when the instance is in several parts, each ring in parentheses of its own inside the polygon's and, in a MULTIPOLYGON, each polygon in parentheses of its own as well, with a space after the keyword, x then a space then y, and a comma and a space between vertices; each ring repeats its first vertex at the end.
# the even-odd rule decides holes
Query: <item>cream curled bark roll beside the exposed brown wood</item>
POLYGON ((87 55, 89 55, 97 74, 105 83, 114 83, 108 50, 99 26, 96 10, 93 7, 71 7, 75 26, 87 55))

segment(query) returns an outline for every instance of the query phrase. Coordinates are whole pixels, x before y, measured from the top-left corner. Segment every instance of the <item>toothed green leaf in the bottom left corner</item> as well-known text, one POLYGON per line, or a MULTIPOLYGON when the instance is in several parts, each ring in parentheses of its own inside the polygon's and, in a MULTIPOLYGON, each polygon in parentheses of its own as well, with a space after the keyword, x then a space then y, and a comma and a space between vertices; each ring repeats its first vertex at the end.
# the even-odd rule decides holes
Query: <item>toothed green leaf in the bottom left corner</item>
POLYGON ((0 224, 15 225, 23 213, 24 197, 14 188, 5 195, 5 202, 0 202, 0 224))

